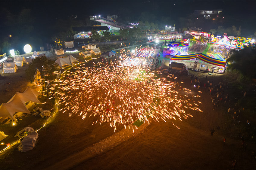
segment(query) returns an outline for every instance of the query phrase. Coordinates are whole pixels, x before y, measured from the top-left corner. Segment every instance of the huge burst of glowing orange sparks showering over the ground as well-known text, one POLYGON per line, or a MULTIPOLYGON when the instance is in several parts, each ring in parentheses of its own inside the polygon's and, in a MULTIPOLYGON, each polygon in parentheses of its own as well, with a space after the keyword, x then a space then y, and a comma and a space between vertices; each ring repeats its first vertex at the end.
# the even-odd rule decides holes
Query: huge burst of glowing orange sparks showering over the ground
MULTIPOLYGON (((122 63, 98 63, 95 67, 84 65, 68 71, 59 80, 57 89, 62 112, 69 115, 98 117, 96 123, 108 122, 111 127, 128 126, 137 119, 145 122, 148 117, 154 120, 167 120, 192 117, 184 109, 201 111, 198 103, 187 99, 190 90, 166 78, 156 79, 155 71, 149 67, 129 67, 122 63), (181 89, 181 90, 179 90, 181 89), (180 92, 185 91, 187 95, 180 92)), ((197 96, 189 95, 194 98, 197 96)))

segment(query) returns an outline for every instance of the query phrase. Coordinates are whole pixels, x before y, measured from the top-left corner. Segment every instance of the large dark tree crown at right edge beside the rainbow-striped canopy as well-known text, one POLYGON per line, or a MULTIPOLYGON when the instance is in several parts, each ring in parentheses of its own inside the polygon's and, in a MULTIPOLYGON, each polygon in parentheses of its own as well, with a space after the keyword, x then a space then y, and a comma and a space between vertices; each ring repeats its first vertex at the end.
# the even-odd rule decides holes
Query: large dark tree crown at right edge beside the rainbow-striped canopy
POLYGON ((230 62, 229 70, 237 70, 249 78, 256 78, 256 47, 244 46, 241 50, 232 50, 233 54, 227 60, 230 62))

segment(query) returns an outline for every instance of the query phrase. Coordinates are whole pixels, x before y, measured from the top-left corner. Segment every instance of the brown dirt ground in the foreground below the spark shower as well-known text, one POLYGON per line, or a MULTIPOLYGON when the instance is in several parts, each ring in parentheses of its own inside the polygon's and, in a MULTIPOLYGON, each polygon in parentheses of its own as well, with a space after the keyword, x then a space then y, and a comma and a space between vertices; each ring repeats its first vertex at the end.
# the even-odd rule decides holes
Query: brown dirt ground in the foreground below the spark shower
MULTIPOLYGON (((202 79, 206 75, 191 73, 202 79)), ((208 75, 208 79, 217 83, 221 76, 208 75)), ((181 79, 182 86, 199 94, 191 87, 190 77, 181 79)), ((123 127, 114 132, 108 123, 92 125, 95 117, 82 120, 58 113, 39 131, 33 150, 22 153, 16 145, 1 154, 0 169, 232 169, 235 160, 236 169, 255 169, 251 158, 255 146, 248 143, 243 150, 239 140, 223 135, 226 111, 214 111, 209 93, 201 91, 196 101, 202 102, 203 112, 191 113, 193 117, 183 121, 151 120, 135 133, 123 127), (211 136, 210 129, 216 126, 220 130, 211 136)))

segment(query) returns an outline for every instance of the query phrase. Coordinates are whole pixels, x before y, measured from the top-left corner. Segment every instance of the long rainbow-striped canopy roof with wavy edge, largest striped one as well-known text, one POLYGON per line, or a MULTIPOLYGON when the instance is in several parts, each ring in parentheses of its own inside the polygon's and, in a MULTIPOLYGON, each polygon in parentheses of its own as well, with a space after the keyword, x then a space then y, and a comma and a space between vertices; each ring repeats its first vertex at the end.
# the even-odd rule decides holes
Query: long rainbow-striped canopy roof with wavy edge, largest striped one
POLYGON ((172 60, 189 60, 194 58, 201 59, 202 61, 212 65, 217 65, 222 67, 226 66, 226 60, 214 59, 202 53, 189 54, 189 55, 175 55, 171 59, 172 60))

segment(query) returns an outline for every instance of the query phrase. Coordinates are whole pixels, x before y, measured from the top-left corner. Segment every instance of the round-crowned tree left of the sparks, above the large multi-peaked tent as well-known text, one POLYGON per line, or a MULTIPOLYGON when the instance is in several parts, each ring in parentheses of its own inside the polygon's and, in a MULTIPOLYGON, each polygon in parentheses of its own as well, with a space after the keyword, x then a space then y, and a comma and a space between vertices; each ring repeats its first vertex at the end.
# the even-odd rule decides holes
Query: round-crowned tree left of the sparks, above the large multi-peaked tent
POLYGON ((54 61, 48 59, 46 56, 41 56, 32 60, 26 70, 26 75, 28 80, 33 83, 35 74, 38 71, 42 78, 42 81, 40 82, 42 83, 42 90, 45 91, 45 80, 54 80, 56 75, 53 74, 53 72, 58 70, 58 65, 54 61))

